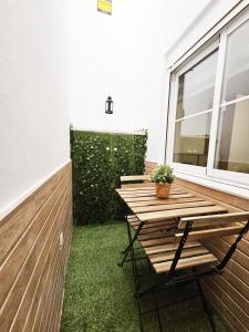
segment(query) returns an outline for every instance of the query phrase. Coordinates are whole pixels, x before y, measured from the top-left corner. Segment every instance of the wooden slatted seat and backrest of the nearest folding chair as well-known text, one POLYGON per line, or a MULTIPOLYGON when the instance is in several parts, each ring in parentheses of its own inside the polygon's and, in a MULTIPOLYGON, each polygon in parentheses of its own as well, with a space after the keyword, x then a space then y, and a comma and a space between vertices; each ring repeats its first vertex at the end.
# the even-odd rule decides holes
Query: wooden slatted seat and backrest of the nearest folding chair
MULTIPOLYGON (((230 259, 238 242, 248 231, 248 220, 249 212, 181 218, 178 224, 178 231, 174 235, 173 243, 164 247, 162 245, 145 246, 144 249, 155 271, 162 273, 170 271, 174 262, 176 263, 175 270, 217 262, 216 256, 205 248, 201 241, 207 238, 239 235, 230 247, 232 248, 229 251, 230 259), (235 247, 232 247, 234 245, 235 247), (177 253, 179 255, 178 259, 177 253)), ((224 268, 225 266, 222 266, 224 268)))

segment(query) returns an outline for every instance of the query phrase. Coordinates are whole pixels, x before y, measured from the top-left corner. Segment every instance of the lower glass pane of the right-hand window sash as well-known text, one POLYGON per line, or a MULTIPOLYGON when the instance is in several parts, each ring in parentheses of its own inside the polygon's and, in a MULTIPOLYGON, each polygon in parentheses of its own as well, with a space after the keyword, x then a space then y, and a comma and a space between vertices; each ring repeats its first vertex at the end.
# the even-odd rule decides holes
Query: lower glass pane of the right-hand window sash
POLYGON ((249 101, 221 108, 215 168, 249 173, 249 101))

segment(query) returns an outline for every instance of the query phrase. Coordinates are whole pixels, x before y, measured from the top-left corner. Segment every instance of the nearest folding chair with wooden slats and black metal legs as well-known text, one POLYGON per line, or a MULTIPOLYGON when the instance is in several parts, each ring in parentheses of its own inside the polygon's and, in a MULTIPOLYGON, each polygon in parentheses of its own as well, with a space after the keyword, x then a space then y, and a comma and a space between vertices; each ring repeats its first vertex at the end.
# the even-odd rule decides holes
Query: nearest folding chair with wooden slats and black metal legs
MULTIPOLYGON (((149 293, 155 295, 155 293, 174 284, 179 287, 180 283, 196 282, 210 326, 212 331, 216 331, 199 280, 211 274, 220 274, 224 271, 248 230, 248 211, 181 218, 178 224, 178 231, 175 232, 172 242, 149 247, 143 246, 142 242, 155 272, 164 273, 164 278, 158 279, 156 284, 146 290, 138 291, 136 297, 141 299, 149 293), (237 235, 237 237, 220 261, 201 243, 207 238, 230 235, 237 235), (179 270, 185 270, 185 273, 179 274, 179 270)), ((159 321, 158 309, 156 308, 156 310, 159 321)))

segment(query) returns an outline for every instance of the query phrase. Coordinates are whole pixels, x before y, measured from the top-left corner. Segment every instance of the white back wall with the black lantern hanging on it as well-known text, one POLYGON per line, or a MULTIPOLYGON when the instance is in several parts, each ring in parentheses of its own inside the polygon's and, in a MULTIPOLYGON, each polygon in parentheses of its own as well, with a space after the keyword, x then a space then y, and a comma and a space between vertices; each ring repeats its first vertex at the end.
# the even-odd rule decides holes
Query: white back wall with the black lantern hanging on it
POLYGON ((113 15, 93 0, 70 1, 71 122, 102 131, 149 129, 147 159, 164 160, 165 50, 209 0, 113 0, 113 15), (114 114, 104 114, 107 95, 114 114))

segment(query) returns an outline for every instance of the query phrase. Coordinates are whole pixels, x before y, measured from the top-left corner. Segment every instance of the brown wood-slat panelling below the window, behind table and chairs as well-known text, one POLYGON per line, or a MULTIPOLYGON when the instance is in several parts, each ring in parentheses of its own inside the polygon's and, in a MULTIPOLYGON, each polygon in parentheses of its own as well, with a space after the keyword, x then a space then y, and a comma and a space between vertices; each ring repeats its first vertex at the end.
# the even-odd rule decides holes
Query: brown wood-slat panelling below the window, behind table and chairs
MULTIPOLYGON (((145 162, 145 174, 151 173, 156 165, 156 163, 145 162)), ((183 179, 177 179, 176 183, 183 187, 230 205, 231 209, 249 210, 248 199, 183 179)), ((221 259, 232 241, 234 237, 230 236, 206 241, 206 245, 217 258, 221 259)), ((224 274, 206 279, 204 288, 207 298, 226 320, 231 331, 249 331, 249 235, 240 241, 224 274)))

